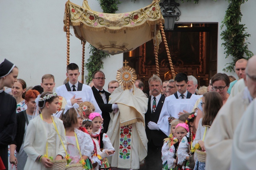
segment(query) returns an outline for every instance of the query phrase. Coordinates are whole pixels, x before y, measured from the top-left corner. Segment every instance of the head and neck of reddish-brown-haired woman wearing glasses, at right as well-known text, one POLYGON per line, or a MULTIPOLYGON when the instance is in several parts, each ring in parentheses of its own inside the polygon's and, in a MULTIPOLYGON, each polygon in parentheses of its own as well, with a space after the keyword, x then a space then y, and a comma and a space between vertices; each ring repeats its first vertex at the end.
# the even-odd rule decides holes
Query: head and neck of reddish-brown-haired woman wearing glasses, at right
POLYGON ((212 77, 211 81, 213 91, 217 91, 221 95, 223 104, 225 104, 229 97, 227 93, 230 84, 228 75, 225 73, 217 73, 212 77))

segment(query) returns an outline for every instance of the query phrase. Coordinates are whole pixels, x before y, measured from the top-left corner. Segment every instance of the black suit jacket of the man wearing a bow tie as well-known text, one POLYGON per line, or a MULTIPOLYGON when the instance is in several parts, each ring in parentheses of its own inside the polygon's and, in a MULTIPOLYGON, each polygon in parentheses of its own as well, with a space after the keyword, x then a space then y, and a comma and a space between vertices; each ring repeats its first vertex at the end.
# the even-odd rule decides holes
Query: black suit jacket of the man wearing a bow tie
MULTIPOLYGON (((96 102, 98 103, 100 110, 102 112, 102 118, 104 119, 103 120, 103 128, 104 128, 103 133, 106 133, 109 128, 109 122, 110 122, 110 114, 109 113, 112 112, 112 104, 104 104, 104 101, 103 101, 102 97, 100 96, 99 91, 94 86, 91 87, 91 89, 93 90, 94 98, 95 98, 96 102)), ((106 95, 107 103, 109 103, 109 96, 111 94, 105 90, 104 90, 104 93, 106 95)))

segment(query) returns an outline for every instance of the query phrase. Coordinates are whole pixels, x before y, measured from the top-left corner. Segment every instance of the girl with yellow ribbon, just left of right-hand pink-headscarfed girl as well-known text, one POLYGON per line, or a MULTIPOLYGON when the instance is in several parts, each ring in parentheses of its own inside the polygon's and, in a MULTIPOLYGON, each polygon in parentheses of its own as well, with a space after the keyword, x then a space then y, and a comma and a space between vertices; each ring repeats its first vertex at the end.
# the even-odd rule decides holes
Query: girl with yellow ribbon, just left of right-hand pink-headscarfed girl
POLYGON ((163 146, 162 146, 162 151, 161 151, 162 152, 162 161, 163 161, 162 162, 162 164, 163 164, 162 170, 169 169, 169 167, 173 164, 169 161, 171 159, 168 159, 168 155, 169 155, 168 151, 171 149, 171 146, 173 146, 175 144, 174 148, 172 147, 172 149, 175 149, 175 151, 177 151, 177 148, 179 146, 179 140, 175 136, 175 128, 176 128, 177 124, 179 124, 178 119, 171 121, 171 133, 168 138, 165 138, 163 140, 163 146))

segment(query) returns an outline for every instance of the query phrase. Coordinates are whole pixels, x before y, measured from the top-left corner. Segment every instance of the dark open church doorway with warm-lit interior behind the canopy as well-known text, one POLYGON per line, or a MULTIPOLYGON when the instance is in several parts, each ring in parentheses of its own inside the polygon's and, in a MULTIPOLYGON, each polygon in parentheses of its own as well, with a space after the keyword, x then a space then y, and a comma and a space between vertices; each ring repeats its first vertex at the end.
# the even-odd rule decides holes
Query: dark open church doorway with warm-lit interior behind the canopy
MULTIPOLYGON (((209 79, 217 73, 218 23, 175 24, 174 30, 165 31, 165 35, 175 72, 193 75, 198 87, 208 86, 209 79)), ((145 85, 143 91, 148 91, 148 79, 156 74, 153 40, 124 53, 125 60, 136 69, 138 79, 145 85)), ((163 40, 158 62, 161 80, 172 79, 163 40)))

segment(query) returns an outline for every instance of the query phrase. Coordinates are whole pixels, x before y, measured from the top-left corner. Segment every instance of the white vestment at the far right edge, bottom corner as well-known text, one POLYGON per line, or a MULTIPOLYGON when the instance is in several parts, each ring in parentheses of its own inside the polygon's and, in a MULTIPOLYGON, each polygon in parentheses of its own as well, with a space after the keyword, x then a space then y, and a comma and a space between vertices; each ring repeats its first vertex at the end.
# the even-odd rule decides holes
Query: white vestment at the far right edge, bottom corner
POLYGON ((256 100, 244 112, 234 132, 230 169, 255 169, 256 100))

